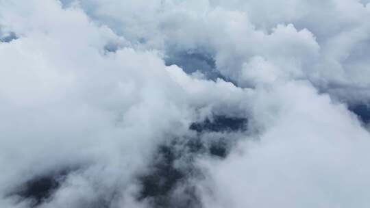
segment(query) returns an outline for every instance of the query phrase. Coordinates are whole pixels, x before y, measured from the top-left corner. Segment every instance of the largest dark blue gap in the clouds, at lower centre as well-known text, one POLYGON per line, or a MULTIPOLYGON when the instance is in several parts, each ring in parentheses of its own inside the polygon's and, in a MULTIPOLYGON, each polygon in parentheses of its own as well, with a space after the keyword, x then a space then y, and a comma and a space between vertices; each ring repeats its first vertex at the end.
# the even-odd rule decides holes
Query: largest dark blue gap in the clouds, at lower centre
POLYGON ((247 131, 246 127, 246 118, 224 115, 192 123, 193 136, 173 138, 158 146, 149 171, 138 177, 142 185, 138 200, 153 207, 202 207, 194 183, 205 176, 195 161, 199 157, 225 159, 236 142, 229 133, 247 131))

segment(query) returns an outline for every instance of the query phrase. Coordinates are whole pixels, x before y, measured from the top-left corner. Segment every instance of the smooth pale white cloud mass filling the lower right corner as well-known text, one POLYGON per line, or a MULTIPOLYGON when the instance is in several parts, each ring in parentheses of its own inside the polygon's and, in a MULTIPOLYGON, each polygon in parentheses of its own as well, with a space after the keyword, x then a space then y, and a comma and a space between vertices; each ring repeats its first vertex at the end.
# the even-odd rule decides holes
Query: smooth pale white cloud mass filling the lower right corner
POLYGON ((278 106, 260 117, 270 127, 258 142, 243 142, 243 152, 225 161, 201 162, 210 175, 204 187, 212 190, 204 190, 205 207, 369 205, 370 169, 363 165, 369 132, 345 106, 306 83, 288 83, 258 99, 278 106))

